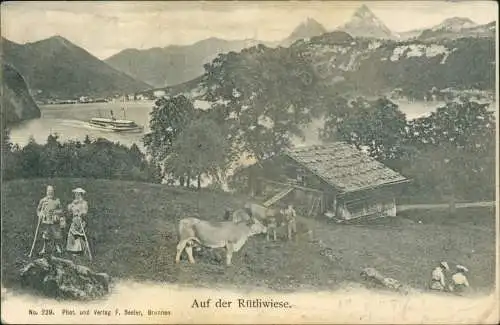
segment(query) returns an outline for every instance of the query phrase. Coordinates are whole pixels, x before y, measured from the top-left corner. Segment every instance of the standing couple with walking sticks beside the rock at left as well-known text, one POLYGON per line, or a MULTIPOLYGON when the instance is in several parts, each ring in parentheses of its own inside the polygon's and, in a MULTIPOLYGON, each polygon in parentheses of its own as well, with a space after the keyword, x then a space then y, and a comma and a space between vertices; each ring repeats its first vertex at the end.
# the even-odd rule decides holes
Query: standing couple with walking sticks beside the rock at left
MULTIPOLYGON (((85 249, 89 249, 85 234, 88 204, 83 198, 86 193, 84 189, 79 187, 72 192, 74 193, 74 200, 67 206, 67 215, 71 217, 71 224, 66 239, 66 251, 72 254, 81 254, 85 249)), ((58 254, 62 254, 62 233, 65 231, 67 224, 61 201, 55 197, 53 186, 47 186, 46 196, 40 200, 36 212, 43 241, 43 247, 39 254, 46 254, 48 247, 50 249, 55 248, 58 254)), ((37 240, 38 238, 35 235, 33 247, 37 240)))

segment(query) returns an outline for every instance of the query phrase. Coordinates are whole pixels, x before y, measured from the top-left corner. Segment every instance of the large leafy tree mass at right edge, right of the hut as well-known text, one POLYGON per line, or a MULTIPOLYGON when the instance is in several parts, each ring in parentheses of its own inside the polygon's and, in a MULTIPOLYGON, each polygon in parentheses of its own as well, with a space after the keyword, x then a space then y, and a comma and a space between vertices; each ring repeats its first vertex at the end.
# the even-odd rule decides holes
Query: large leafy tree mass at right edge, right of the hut
POLYGON ((416 154, 404 172, 421 191, 462 199, 493 198, 495 122, 487 105, 462 98, 409 122, 408 146, 416 154))

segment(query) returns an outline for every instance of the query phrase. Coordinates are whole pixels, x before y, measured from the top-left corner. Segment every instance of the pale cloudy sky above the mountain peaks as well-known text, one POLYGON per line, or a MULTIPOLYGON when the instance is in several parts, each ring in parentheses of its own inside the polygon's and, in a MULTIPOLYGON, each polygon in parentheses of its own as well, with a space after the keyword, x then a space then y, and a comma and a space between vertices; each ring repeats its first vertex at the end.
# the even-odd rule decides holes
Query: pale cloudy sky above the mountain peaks
POLYGON ((496 1, 190 1, 2 2, 2 36, 16 43, 54 35, 100 59, 126 48, 186 45, 209 37, 278 41, 307 18, 327 30, 366 4, 394 32, 431 27, 450 17, 497 20, 496 1))

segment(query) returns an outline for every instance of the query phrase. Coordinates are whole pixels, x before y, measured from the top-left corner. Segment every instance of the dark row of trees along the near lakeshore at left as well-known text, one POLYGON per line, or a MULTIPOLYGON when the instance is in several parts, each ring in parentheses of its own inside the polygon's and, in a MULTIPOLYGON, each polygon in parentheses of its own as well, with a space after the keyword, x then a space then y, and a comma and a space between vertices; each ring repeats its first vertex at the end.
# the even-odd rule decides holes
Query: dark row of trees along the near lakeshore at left
POLYGON ((47 143, 33 138, 22 148, 11 146, 3 153, 5 180, 36 177, 88 177, 160 182, 156 164, 148 161, 136 145, 128 148, 106 139, 60 142, 57 134, 47 143))

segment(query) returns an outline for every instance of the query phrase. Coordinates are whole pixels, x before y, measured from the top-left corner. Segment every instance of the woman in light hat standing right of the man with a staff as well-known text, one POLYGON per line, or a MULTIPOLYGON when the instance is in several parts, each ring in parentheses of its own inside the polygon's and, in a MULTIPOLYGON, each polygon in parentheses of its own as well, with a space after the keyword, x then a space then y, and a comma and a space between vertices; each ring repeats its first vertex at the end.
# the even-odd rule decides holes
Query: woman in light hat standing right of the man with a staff
POLYGON ((88 212, 87 201, 83 199, 85 190, 76 188, 73 190, 75 199, 68 205, 68 211, 72 215, 71 225, 66 241, 66 250, 73 254, 81 254, 87 244, 85 236, 85 217, 88 212))

